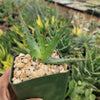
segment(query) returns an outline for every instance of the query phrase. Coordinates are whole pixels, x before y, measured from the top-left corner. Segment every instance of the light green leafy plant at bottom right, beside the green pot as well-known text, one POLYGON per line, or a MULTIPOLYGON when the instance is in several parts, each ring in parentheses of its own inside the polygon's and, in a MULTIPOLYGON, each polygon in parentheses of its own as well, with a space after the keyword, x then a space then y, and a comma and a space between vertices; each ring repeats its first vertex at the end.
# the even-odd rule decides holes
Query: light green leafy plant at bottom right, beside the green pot
MULTIPOLYGON (((69 90, 67 92, 69 100, 95 100, 96 96, 93 94, 93 88, 87 82, 75 82, 69 83, 69 90)), ((68 96, 66 94, 66 96, 68 96)))

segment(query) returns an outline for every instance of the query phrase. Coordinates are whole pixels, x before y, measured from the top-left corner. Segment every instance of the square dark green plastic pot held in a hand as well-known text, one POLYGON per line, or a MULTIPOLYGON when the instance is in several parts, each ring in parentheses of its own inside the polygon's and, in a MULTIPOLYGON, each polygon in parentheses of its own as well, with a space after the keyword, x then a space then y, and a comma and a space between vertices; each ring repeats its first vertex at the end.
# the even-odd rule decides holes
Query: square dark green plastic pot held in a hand
POLYGON ((27 80, 13 84, 13 65, 9 78, 18 100, 28 98, 42 98, 43 100, 64 100, 69 78, 69 71, 27 80))

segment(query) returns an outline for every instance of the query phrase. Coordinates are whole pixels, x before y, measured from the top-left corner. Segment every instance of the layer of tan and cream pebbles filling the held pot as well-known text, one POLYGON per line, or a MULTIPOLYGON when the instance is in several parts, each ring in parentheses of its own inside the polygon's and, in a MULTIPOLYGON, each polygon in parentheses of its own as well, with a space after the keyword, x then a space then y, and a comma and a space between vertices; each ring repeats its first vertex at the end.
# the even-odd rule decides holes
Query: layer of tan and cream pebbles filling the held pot
MULTIPOLYGON (((60 58, 55 50, 51 57, 60 58)), ((16 84, 29 79, 38 78, 45 75, 62 73, 66 71, 67 64, 50 65, 41 63, 39 60, 36 60, 35 62, 29 54, 25 55, 21 53, 15 58, 14 61, 14 73, 12 82, 16 84)))

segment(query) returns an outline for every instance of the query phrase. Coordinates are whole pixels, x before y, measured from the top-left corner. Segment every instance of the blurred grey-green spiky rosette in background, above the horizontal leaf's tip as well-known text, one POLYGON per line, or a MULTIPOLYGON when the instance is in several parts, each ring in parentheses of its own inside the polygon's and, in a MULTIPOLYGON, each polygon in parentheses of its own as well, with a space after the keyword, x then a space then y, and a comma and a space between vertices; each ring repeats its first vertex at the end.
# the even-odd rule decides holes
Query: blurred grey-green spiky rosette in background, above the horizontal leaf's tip
POLYGON ((94 45, 96 45, 96 40, 93 36, 89 36, 87 34, 81 34, 73 39, 73 44, 76 45, 75 51, 76 52, 81 51, 83 56, 85 56, 85 54, 86 54, 85 44, 89 48, 92 48, 94 45))

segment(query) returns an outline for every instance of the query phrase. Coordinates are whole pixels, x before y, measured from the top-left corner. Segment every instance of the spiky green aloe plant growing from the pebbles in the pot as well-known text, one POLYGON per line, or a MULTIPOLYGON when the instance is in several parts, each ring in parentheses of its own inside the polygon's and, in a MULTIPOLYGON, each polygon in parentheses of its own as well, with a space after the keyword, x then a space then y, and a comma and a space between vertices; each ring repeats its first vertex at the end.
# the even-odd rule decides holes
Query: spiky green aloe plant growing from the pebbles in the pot
POLYGON ((50 58, 51 54, 53 53, 54 49, 56 48, 56 45, 60 38, 62 37, 66 26, 62 26, 57 31, 55 31, 55 36, 52 37, 52 39, 47 43, 45 38, 40 33, 38 27, 34 26, 36 39, 32 34, 30 33, 29 29, 27 28, 23 17, 21 15, 21 12, 19 12, 20 20, 21 20, 21 26, 23 29, 23 32, 25 34, 26 42, 28 45, 28 53, 31 54, 33 57, 39 59, 41 62, 44 63, 50 63, 50 64, 61 64, 61 63, 68 63, 68 62, 74 62, 74 61, 80 61, 81 58, 71 58, 71 59, 64 59, 64 58, 50 58))

